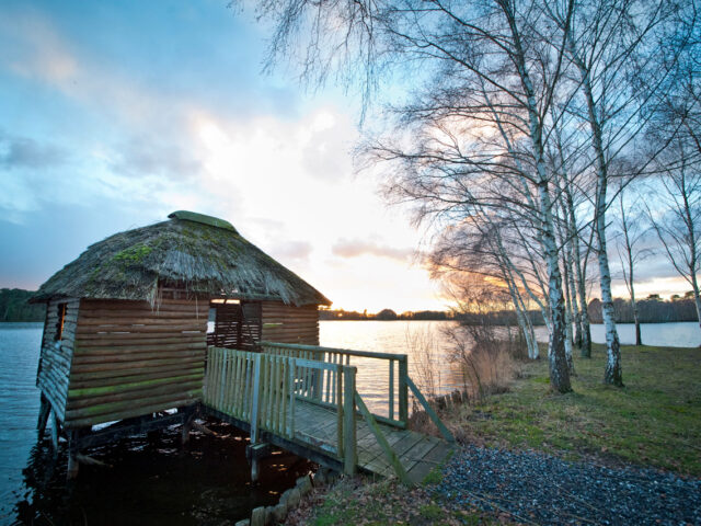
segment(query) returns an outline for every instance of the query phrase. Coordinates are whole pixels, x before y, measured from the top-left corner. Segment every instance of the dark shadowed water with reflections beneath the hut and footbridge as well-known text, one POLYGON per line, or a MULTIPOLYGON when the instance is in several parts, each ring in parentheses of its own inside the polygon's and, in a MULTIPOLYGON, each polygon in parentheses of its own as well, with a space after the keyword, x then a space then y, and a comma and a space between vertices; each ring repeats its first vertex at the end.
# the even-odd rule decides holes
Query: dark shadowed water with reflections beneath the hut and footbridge
MULTIPOLYGON (((66 483, 66 451, 55 458, 48 441, 32 448, 10 524, 220 525, 277 502, 312 465, 283 451, 262 462, 252 483, 248 436, 217 421, 218 436, 193 432, 183 448, 180 430, 164 430, 90 449, 110 467, 82 466, 66 483)), ((65 444, 62 444, 65 449, 65 444)))

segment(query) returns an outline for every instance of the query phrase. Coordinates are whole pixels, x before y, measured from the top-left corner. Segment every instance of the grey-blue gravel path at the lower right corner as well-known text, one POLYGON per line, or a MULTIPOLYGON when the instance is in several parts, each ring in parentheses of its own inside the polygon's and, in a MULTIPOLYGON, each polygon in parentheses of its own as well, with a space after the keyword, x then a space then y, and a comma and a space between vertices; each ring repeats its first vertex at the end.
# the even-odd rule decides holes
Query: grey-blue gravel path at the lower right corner
POLYGON ((701 525, 701 479, 539 453, 468 447, 434 491, 455 507, 471 504, 525 524, 701 525))

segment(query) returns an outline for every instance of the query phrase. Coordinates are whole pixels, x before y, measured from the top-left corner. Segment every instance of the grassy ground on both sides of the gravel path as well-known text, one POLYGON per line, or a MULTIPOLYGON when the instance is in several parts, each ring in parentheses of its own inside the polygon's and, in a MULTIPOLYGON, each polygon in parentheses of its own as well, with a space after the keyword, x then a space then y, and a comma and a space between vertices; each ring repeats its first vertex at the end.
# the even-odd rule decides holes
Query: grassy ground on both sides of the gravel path
MULTIPOLYGON (((601 382, 606 348, 575 356, 574 392, 554 395, 545 359, 524 364, 508 392, 443 414, 460 442, 537 449, 597 464, 701 476, 701 350, 622 347, 622 389, 601 382)), ((427 484, 440 480, 432 473, 427 484)), ((287 524, 509 524, 505 514, 456 512, 426 488, 345 479, 317 490, 287 524)))

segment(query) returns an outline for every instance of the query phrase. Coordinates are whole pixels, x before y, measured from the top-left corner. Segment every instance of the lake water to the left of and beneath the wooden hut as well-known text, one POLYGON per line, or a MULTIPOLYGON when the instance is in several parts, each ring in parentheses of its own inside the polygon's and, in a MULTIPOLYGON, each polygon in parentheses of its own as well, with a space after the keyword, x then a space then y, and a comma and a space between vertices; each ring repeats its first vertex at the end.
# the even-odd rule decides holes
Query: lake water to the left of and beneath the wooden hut
POLYGON ((111 468, 81 466, 66 485, 66 457, 37 446, 35 387, 41 323, 0 323, 0 525, 221 525, 277 502, 311 465, 285 453, 262 462, 252 483, 248 436, 208 423, 218 437, 177 428, 92 449, 111 468))

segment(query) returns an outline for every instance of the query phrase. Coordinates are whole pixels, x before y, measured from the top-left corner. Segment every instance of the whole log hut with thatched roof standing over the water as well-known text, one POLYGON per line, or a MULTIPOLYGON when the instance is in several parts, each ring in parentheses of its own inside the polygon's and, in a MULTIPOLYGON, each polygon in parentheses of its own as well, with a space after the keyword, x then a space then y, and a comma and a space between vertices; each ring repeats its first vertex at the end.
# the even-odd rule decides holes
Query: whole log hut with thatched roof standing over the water
POLYGON ((227 221, 169 218, 89 247, 34 299, 47 304, 42 414, 53 410, 73 448, 95 443, 92 425, 137 419, 142 430, 196 407, 207 345, 319 344, 318 307, 330 305, 319 290, 227 221))

